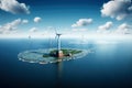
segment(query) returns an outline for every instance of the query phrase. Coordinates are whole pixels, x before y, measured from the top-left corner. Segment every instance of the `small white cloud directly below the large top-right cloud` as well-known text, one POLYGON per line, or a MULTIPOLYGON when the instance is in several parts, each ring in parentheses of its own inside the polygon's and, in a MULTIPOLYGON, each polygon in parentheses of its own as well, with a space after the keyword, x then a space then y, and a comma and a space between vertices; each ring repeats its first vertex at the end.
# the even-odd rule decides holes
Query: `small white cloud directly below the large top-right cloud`
POLYGON ((113 25, 113 23, 111 21, 109 21, 106 24, 98 26, 97 32, 99 32, 99 33, 106 33, 107 32, 108 33, 112 25, 113 25))

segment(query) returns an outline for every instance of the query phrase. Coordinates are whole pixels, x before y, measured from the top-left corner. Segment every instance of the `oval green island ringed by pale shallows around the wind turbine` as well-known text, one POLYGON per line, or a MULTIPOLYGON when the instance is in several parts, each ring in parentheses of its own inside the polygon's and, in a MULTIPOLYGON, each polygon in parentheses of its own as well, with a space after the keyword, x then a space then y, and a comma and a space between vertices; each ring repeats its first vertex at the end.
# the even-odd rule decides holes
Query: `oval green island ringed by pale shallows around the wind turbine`
POLYGON ((18 58, 22 62, 48 64, 76 59, 88 54, 88 51, 85 50, 64 48, 61 51, 63 52, 62 57, 57 56, 58 51, 55 48, 52 48, 51 51, 40 48, 22 52, 18 55, 18 58))

